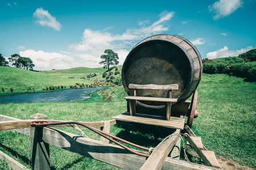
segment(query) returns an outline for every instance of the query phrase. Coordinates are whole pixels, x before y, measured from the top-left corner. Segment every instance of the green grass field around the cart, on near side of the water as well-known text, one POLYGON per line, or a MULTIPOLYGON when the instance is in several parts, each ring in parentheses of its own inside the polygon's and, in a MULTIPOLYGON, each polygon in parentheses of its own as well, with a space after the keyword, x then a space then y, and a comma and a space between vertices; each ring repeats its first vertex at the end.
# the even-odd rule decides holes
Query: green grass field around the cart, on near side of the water
MULTIPOLYGON (((192 130, 218 157, 256 168, 256 83, 243 82, 241 78, 224 74, 203 74, 197 91, 199 117, 194 120, 192 130)), ((126 101, 123 99, 126 92, 122 86, 110 88, 103 94, 109 102, 102 100, 96 92, 88 100, 72 103, 0 104, 0 114, 28 119, 31 114, 43 113, 47 114, 49 119, 101 121, 110 120, 112 116, 126 111, 126 101)), ((60 129, 79 134, 72 128, 60 129)), ((110 132, 139 145, 155 147, 170 130, 123 123, 112 126, 110 132)), ((85 133, 90 138, 100 139, 88 130, 85 130, 85 133)), ((1 131, 0 150, 31 168, 29 137, 12 130, 1 131)), ((50 147, 50 155, 52 169, 113 169, 111 165, 53 146, 50 147)), ((198 161, 196 158, 191 159, 198 161)))

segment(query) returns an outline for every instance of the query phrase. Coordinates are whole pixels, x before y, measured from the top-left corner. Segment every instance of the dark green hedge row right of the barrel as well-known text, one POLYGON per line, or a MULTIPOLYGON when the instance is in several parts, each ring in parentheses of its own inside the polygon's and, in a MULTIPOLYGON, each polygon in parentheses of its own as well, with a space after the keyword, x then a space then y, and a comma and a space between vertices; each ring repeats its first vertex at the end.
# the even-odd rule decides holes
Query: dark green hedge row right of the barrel
POLYGON ((205 62, 203 64, 203 73, 229 74, 256 82, 256 62, 233 63, 230 65, 205 62))

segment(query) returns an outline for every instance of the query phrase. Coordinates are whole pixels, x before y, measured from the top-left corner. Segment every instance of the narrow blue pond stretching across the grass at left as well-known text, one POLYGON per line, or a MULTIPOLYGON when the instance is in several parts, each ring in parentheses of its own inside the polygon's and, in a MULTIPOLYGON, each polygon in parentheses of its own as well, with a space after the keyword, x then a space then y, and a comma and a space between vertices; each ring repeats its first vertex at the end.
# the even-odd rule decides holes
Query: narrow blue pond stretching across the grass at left
POLYGON ((32 94, 0 96, 0 103, 75 101, 75 100, 89 98, 89 96, 82 96, 82 94, 89 94, 89 93, 92 93, 98 90, 104 90, 104 89, 106 89, 106 87, 77 88, 77 89, 68 89, 68 90, 55 91, 55 92, 38 92, 38 93, 32 93, 32 94))

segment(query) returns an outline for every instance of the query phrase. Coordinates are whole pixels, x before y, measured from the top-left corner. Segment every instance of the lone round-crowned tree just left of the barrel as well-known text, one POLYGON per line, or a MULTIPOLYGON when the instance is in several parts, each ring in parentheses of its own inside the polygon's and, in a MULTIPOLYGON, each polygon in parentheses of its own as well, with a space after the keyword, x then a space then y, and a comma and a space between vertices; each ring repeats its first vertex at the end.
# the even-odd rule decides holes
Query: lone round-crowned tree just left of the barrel
POLYGON ((101 65, 104 65, 103 68, 110 70, 110 66, 117 66, 119 61, 117 61, 118 54, 114 53, 111 49, 106 49, 105 54, 101 55, 102 61, 100 62, 101 65))

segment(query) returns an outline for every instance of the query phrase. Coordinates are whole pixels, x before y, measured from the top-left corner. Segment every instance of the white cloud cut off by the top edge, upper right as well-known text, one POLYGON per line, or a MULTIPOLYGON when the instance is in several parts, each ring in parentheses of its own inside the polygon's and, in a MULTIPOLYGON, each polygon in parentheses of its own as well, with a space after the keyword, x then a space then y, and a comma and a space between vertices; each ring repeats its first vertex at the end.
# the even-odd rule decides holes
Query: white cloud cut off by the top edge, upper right
POLYGON ((232 14, 242 4, 242 0, 219 0, 210 5, 209 10, 214 14, 213 19, 217 20, 232 14))

